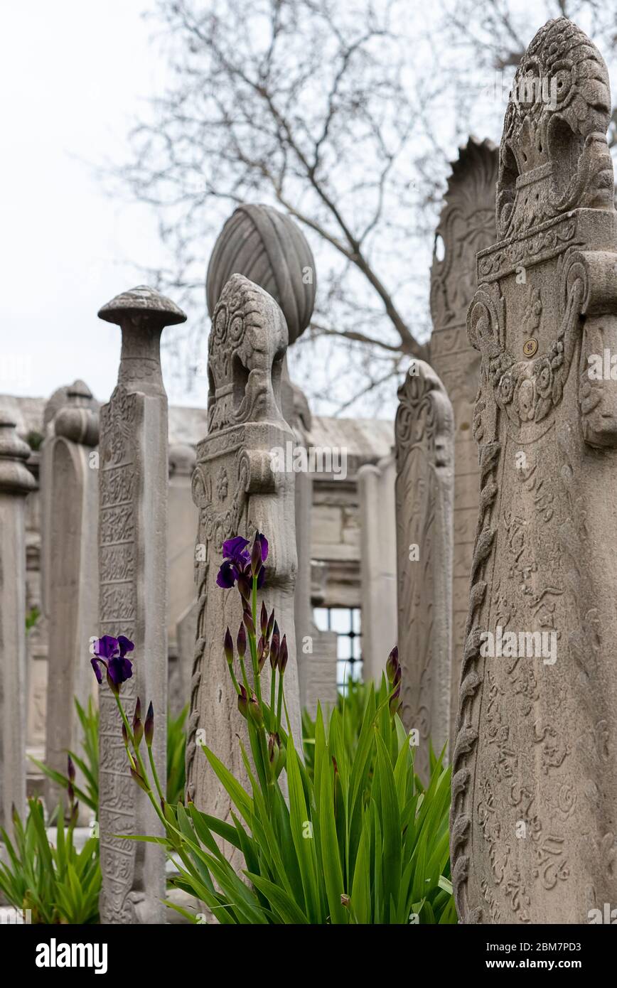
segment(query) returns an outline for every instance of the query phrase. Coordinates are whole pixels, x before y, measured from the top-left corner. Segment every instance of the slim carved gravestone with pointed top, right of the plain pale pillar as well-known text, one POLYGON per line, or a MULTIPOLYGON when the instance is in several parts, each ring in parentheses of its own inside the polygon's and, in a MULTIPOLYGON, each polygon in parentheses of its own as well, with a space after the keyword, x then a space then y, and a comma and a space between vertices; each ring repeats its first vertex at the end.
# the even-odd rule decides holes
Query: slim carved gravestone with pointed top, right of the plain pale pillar
POLYGON ((401 718, 418 731, 416 771, 448 740, 452 616, 454 416, 439 377, 414 361, 398 388, 398 657, 401 718))

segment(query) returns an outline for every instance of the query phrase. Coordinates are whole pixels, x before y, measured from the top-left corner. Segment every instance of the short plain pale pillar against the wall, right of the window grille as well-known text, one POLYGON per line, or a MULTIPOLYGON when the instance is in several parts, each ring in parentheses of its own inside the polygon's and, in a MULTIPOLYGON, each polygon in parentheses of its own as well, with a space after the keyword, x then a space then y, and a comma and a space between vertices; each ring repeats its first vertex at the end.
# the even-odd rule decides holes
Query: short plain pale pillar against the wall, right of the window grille
POLYGON ((381 683, 397 644, 397 511, 394 453, 358 470, 362 591, 362 671, 381 683))

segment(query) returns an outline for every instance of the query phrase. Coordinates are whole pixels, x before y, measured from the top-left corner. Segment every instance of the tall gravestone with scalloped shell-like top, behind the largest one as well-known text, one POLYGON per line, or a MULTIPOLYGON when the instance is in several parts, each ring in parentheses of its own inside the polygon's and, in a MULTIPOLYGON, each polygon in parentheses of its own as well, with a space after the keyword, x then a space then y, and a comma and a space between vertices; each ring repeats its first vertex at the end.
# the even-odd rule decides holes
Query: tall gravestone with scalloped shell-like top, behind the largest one
POLYGON ((476 254, 495 242, 497 148, 470 137, 452 164, 445 206, 435 231, 431 267, 430 363, 444 383, 454 411, 454 556, 452 584, 452 690, 450 740, 456 734, 461 659, 478 518, 480 476, 472 436, 480 384, 480 355, 467 338, 467 310, 476 281, 476 254), (443 257, 437 245, 443 246, 443 257))

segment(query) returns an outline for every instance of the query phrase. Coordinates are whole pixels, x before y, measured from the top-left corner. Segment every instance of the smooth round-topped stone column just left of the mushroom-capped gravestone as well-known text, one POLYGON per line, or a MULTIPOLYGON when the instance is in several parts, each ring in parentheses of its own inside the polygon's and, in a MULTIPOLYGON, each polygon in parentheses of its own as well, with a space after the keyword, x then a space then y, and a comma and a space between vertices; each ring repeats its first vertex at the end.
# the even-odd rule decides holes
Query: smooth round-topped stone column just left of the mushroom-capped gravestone
MULTIPOLYGON (((50 424, 41 464, 47 621, 45 761, 61 773, 66 772, 67 749, 80 749, 82 729, 74 698, 86 707, 96 685, 87 659, 99 609, 98 572, 93 566, 99 511, 98 453, 93 448, 98 442, 98 403, 87 385, 76 380, 50 424)), ((76 773, 77 784, 83 787, 78 767, 76 773)), ((49 812, 63 796, 55 782, 45 781, 49 812)), ((82 811, 86 813, 86 808, 82 811)))

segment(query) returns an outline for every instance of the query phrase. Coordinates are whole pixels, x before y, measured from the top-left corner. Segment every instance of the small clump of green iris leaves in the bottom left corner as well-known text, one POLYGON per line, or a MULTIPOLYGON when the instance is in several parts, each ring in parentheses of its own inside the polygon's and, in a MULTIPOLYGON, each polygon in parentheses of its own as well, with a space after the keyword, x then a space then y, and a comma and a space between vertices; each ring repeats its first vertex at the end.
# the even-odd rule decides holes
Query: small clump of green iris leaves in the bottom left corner
POLYGON ((98 923, 99 842, 91 837, 77 851, 73 826, 64 828, 60 812, 54 847, 45 831, 43 803, 31 798, 28 804, 25 824, 13 813, 13 840, 0 830, 8 858, 0 862, 0 891, 18 911, 32 910, 33 923, 98 923))

